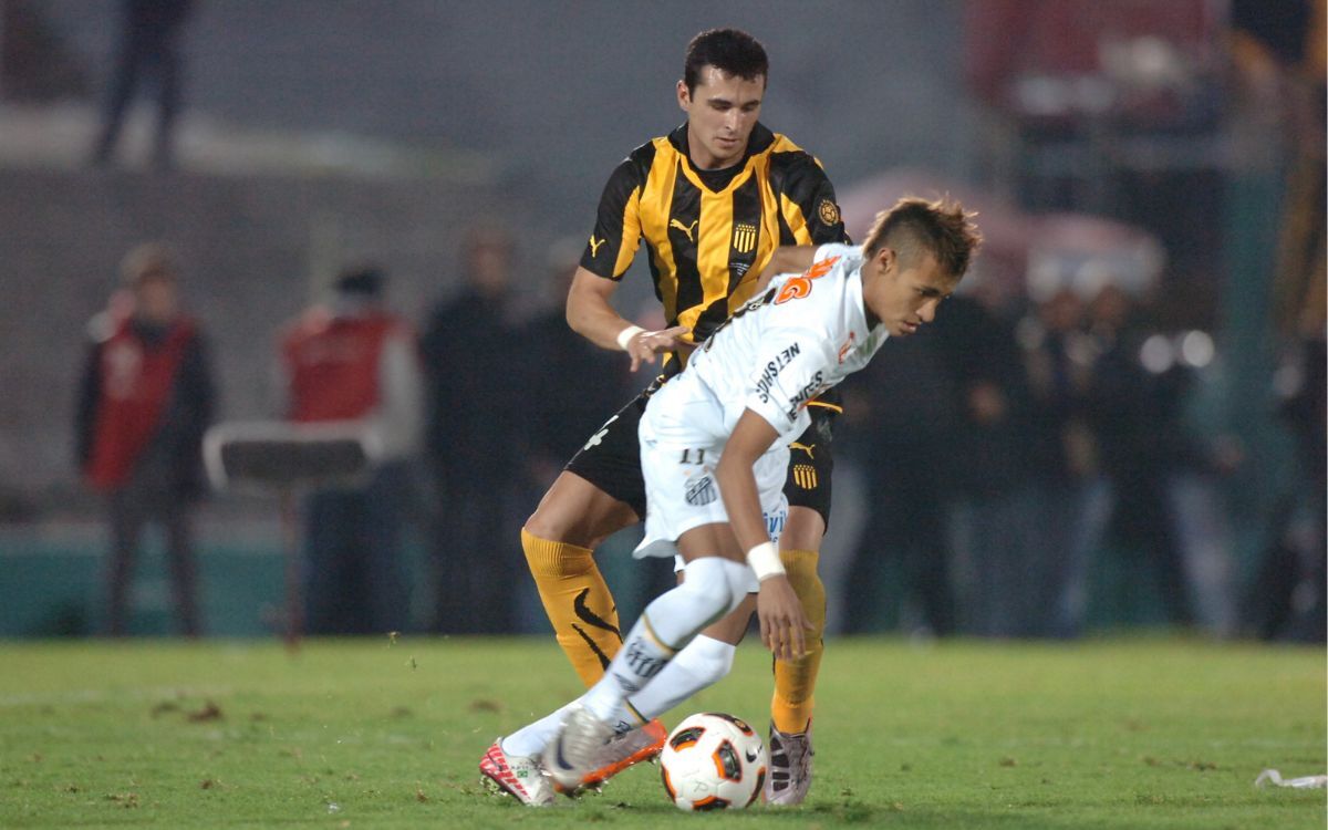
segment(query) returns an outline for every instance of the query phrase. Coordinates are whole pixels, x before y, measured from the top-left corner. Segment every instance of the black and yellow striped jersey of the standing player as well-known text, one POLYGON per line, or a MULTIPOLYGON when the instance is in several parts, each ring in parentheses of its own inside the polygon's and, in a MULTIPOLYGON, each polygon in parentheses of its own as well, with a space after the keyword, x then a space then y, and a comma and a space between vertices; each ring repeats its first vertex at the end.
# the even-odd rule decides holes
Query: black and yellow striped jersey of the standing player
POLYGON ((619 280, 641 239, 668 324, 700 343, 748 300, 778 246, 847 235, 830 179, 795 143, 757 124, 741 162, 697 170, 683 124, 614 170, 580 264, 619 280))

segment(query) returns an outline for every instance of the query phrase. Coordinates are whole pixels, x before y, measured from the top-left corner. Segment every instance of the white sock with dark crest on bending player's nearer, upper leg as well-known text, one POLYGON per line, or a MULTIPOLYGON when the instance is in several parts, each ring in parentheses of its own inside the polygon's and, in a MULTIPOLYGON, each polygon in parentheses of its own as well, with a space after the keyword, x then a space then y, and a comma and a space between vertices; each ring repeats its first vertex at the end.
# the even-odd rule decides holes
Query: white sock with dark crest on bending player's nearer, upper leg
POLYGON ((683 584, 645 607, 604 677, 582 699, 599 720, 619 728, 644 724, 648 718, 633 712, 627 699, 648 687, 703 628, 737 608, 752 578, 746 564, 718 556, 696 559, 683 570, 683 584))

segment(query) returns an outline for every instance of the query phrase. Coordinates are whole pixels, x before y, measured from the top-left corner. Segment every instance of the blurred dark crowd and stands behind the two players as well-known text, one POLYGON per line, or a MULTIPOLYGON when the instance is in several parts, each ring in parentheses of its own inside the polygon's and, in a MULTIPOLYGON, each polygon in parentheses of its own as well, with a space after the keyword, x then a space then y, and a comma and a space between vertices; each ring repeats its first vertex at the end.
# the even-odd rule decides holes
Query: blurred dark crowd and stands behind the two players
MULTIPOLYGON (((845 388, 830 631, 1323 640, 1323 0, 0 0, 0 636, 280 631, 288 559, 311 633, 547 629, 521 523, 648 380, 562 297, 716 25, 851 235, 904 194, 987 235, 845 388), (130 324, 194 382, 98 486, 130 324), (301 398, 335 325, 409 356, 369 479, 210 487, 207 426, 361 412, 301 398)), ((660 323, 643 263, 618 299, 660 323)), ((628 619, 671 579, 629 537, 628 619)))

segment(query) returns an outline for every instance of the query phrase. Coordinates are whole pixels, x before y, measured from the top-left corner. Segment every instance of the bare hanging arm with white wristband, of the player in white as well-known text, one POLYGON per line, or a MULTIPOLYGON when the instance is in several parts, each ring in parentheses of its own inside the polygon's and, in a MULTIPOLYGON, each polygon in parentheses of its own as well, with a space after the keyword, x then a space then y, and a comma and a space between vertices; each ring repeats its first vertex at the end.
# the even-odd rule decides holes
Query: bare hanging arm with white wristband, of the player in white
POLYGON ((765 530, 761 497, 752 473, 753 465, 778 437, 765 418, 750 409, 745 410, 724 445, 724 456, 714 467, 714 479, 738 547, 748 551, 748 562, 761 580, 761 594, 757 596, 761 641, 776 657, 791 660, 806 652, 806 631, 811 629, 811 623, 802 611, 802 603, 784 574, 778 550, 765 530))

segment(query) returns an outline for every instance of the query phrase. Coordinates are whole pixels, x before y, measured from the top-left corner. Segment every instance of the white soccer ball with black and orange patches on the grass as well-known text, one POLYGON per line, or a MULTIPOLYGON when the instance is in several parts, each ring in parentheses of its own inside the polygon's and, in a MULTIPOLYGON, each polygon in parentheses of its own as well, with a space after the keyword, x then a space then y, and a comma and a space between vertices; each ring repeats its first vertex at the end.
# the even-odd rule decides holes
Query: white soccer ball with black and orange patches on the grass
POLYGON ((664 791, 683 810, 741 810, 761 794, 765 770, 761 736, 718 712, 684 720, 660 753, 664 791))

